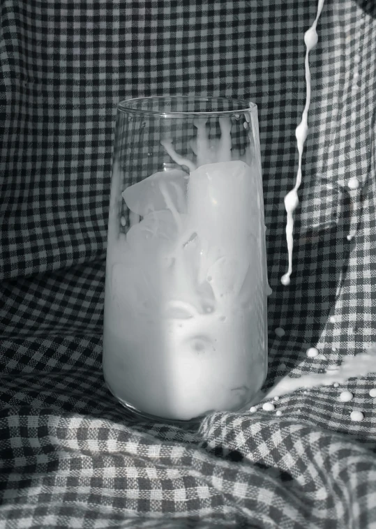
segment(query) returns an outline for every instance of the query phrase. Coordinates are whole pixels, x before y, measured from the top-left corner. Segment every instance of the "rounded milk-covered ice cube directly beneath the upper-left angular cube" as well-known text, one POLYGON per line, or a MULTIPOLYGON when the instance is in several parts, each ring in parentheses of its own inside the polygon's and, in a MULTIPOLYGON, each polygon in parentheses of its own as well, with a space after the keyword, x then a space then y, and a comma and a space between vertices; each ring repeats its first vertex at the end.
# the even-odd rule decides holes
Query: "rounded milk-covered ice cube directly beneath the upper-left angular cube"
MULTIPOLYGON (((185 215, 181 215, 183 222, 185 215)), ((171 248, 177 239, 178 228, 171 211, 153 211, 147 214, 140 223, 130 227, 126 240, 130 251, 144 253, 152 257, 156 253, 171 248)))

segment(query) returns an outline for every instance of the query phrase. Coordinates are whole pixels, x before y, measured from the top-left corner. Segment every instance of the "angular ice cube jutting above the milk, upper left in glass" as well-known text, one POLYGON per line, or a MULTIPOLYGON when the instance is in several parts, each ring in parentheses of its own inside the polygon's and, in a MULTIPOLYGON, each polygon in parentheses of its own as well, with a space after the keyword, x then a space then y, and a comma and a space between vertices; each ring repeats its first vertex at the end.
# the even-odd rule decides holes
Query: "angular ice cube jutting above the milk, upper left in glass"
POLYGON ((160 171, 126 188, 121 195, 130 211, 146 216, 151 211, 160 211, 169 207, 166 193, 179 213, 186 213, 186 188, 188 174, 179 169, 160 171), (160 184, 163 184, 161 190, 160 184))

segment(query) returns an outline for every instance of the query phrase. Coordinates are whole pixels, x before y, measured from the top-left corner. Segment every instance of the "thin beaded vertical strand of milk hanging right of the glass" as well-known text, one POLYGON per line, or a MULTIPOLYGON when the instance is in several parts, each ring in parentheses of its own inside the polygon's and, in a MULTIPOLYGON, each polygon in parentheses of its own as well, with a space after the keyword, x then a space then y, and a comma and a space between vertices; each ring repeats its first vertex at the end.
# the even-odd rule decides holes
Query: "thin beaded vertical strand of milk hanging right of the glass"
POLYGON ((294 232, 294 211, 299 205, 299 198, 298 198, 297 191, 299 187, 301 186, 301 157, 303 154, 304 143, 306 142, 307 135, 308 135, 308 111, 310 108, 309 52, 310 50, 313 49, 313 47, 315 47, 318 41, 316 27, 317 27, 317 22, 319 20, 319 16, 321 15, 323 6, 324 6, 324 0, 319 0, 315 22, 313 22, 310 29, 308 29, 308 31, 306 31, 306 33, 304 34, 304 43, 306 44, 306 61, 305 61, 306 106, 304 107, 304 110, 303 110, 303 114, 301 117, 301 123, 296 127, 296 131, 295 131, 296 144, 297 144, 298 152, 299 152, 299 165, 298 165, 298 172, 296 174, 296 184, 294 188, 291 191, 289 191, 289 193, 287 193, 287 195, 285 196, 285 209, 287 213, 286 239, 287 239, 289 266, 287 269, 287 273, 284 274, 280 280, 283 285, 289 285, 290 276, 292 274, 292 248, 294 244, 293 239, 292 239, 292 234, 294 232))

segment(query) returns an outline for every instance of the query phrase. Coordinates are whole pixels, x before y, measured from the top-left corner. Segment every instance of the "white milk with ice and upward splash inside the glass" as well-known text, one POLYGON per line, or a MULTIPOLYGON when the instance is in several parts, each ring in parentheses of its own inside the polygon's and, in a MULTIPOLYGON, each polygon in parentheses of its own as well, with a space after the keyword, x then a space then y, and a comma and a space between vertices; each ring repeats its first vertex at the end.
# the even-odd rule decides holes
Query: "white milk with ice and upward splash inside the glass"
POLYGON ((144 217, 126 235, 119 198, 111 198, 105 380, 126 405, 165 419, 238 410, 260 390, 267 368, 258 174, 232 161, 230 119, 220 118, 216 142, 201 121, 196 126, 196 162, 163 142, 190 168, 188 179, 179 170, 157 173, 123 192, 144 217))

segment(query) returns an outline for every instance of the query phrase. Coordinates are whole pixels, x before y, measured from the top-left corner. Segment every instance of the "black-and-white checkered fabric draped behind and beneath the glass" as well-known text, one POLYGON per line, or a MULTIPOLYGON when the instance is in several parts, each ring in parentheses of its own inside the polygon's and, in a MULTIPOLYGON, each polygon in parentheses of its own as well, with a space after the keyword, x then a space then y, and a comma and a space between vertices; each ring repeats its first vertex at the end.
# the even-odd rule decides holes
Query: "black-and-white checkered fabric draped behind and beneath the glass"
POLYGON ((322 371, 376 331, 376 3, 326 0, 287 269, 303 33, 315 0, 2 0, 0 528, 376 528, 372 376, 140 422, 101 371, 119 100, 257 103, 268 232, 269 375, 322 371), (359 179, 356 190, 347 187, 359 179), (285 336, 274 333, 285 329, 285 336), (307 346, 320 355, 306 357, 307 346), (352 422, 362 410, 363 422, 352 422))

